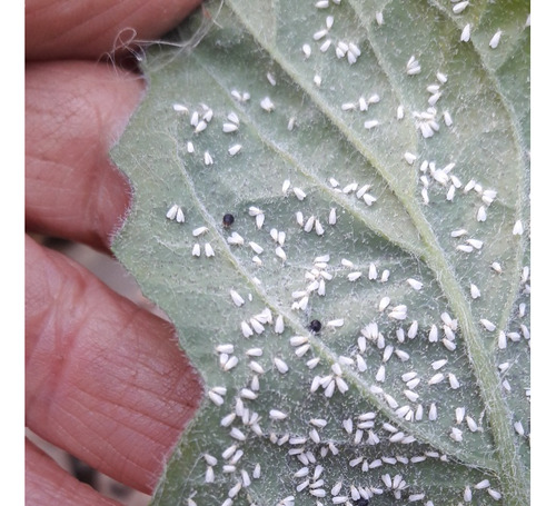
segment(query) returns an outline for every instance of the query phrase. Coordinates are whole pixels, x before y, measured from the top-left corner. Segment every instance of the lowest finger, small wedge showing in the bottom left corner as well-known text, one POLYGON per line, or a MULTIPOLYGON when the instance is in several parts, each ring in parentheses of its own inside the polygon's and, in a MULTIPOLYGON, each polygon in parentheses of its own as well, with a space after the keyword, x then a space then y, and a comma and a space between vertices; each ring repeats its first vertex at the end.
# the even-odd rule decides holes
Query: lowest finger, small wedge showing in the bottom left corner
POLYGON ((33 506, 119 505, 101 496, 88 485, 79 483, 29 440, 26 440, 26 504, 33 506))

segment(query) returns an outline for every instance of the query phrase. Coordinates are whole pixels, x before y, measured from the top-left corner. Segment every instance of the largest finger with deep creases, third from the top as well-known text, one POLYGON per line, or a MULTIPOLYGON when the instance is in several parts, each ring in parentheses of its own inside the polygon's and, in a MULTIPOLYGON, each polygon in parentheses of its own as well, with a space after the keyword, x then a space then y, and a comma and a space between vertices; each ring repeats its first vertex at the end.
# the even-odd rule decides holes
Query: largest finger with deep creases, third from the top
POLYGON ((171 326, 26 244, 27 426, 149 493, 200 396, 171 326))

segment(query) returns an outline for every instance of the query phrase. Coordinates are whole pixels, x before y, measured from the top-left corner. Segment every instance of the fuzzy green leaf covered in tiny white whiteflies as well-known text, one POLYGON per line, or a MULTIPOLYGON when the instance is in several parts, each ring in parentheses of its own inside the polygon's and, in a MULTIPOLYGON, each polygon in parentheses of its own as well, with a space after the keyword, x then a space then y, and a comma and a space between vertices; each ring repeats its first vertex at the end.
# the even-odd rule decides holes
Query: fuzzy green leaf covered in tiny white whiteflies
POLYGON ((115 250, 205 383, 153 503, 527 504, 529 4, 319 3, 208 2, 142 62, 115 250))

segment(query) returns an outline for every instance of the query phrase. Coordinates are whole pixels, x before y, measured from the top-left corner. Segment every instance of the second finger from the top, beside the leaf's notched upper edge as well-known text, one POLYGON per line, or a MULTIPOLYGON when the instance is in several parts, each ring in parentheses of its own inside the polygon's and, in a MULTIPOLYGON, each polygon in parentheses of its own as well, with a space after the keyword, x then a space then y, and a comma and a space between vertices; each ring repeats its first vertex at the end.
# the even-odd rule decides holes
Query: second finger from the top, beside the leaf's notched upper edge
POLYGON ((105 65, 28 66, 28 230, 108 249, 130 200, 129 185, 108 152, 141 93, 137 77, 105 65))

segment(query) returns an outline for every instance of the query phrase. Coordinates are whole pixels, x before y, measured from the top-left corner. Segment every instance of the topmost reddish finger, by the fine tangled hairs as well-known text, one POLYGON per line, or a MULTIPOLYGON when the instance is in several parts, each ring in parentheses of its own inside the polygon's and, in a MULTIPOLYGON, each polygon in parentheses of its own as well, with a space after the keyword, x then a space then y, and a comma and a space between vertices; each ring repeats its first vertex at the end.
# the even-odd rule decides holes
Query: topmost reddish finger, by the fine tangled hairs
POLYGON ((131 37, 152 40, 182 20, 200 0, 29 0, 28 60, 92 58, 110 53, 131 37))

